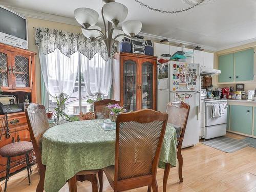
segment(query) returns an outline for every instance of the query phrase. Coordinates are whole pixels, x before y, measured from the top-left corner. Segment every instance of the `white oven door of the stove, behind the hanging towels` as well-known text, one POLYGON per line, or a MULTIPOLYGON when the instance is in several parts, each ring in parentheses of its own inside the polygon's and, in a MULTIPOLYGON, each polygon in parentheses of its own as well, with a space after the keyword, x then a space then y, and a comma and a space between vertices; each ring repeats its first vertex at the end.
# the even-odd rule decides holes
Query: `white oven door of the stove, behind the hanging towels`
POLYGON ((224 115, 218 118, 211 118, 212 103, 205 103, 205 126, 212 126, 227 123, 227 109, 224 109, 224 115))

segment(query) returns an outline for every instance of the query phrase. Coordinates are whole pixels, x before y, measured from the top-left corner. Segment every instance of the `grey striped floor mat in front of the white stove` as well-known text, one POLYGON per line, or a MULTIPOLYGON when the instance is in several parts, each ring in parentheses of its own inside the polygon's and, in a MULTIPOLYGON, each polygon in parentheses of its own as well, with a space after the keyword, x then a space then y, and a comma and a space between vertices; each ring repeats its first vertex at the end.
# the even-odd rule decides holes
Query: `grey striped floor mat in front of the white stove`
POLYGON ((244 140, 232 139, 229 137, 218 137, 203 141, 202 143, 226 153, 236 152, 249 145, 249 143, 244 140))

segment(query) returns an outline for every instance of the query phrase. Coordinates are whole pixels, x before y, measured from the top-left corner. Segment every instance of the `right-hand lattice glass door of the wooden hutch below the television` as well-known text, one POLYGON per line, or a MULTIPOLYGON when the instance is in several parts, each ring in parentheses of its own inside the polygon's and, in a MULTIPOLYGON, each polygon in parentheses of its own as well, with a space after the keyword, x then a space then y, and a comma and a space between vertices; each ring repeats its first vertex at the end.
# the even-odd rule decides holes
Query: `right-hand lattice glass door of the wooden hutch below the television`
POLYGON ((29 88, 30 57, 26 55, 15 55, 12 72, 15 78, 16 88, 29 88))

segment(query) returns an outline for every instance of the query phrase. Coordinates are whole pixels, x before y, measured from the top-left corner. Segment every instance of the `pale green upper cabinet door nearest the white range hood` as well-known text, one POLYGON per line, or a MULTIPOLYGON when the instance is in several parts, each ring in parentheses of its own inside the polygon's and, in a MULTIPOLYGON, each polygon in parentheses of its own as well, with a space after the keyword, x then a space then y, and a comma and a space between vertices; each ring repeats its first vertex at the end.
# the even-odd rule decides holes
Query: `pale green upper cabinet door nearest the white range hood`
POLYGON ((227 55, 219 56, 219 82, 231 82, 234 80, 234 54, 230 53, 227 55))

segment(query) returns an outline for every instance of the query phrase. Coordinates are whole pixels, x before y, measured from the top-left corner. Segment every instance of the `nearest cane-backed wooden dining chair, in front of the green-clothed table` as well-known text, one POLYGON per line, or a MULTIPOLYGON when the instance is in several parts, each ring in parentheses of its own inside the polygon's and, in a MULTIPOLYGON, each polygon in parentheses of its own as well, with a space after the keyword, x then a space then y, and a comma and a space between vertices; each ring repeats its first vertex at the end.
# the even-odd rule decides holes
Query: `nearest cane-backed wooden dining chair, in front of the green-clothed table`
POLYGON ((142 186, 158 191, 156 173, 168 115, 153 110, 117 115, 115 165, 104 168, 114 192, 142 186))

